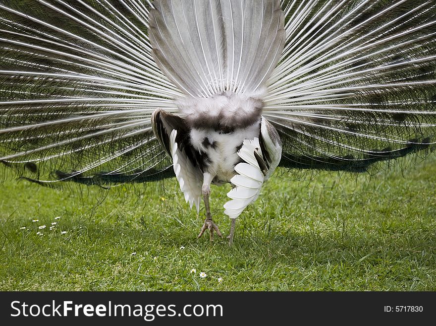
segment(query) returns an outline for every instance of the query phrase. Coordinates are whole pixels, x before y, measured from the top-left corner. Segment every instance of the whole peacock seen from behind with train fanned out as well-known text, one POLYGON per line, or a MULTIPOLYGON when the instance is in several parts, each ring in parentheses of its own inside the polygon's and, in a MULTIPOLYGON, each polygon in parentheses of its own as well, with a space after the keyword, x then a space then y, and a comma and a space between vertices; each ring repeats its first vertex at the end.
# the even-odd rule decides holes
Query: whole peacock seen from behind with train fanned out
POLYGON ((277 167, 430 153, 436 1, 0 0, 0 162, 19 179, 175 177, 222 237, 277 167))

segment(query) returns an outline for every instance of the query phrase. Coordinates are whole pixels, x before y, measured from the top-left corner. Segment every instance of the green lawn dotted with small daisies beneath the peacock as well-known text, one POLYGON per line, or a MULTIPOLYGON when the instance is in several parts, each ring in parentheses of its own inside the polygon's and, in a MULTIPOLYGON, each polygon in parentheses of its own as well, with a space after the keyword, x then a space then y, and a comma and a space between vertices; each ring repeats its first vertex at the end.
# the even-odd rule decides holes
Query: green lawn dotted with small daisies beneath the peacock
MULTIPOLYGON (((436 290, 435 158, 387 178, 290 179, 264 186, 233 248, 196 239, 204 211, 190 211, 175 182, 98 204, 98 189, 80 199, 6 181, 0 290, 436 290)), ((213 187, 211 201, 225 234, 228 190, 213 187)))

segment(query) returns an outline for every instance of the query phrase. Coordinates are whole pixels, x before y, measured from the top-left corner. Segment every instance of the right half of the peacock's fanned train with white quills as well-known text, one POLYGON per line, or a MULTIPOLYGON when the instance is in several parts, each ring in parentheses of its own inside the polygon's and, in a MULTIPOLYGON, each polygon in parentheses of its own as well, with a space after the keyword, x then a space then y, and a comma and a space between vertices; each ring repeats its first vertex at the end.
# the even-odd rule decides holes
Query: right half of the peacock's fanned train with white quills
POLYGON ((287 43, 263 111, 282 139, 282 166, 364 171, 435 148, 434 1, 282 8, 287 43))

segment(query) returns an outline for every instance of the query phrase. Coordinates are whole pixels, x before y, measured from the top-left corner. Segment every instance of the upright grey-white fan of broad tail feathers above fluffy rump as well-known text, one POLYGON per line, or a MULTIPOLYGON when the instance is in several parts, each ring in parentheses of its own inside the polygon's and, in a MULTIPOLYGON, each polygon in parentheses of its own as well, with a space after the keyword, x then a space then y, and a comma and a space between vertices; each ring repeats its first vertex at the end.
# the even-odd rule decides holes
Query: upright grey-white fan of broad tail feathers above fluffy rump
POLYGON ((150 42, 165 74, 191 97, 264 87, 284 46, 278 0, 156 0, 150 42))

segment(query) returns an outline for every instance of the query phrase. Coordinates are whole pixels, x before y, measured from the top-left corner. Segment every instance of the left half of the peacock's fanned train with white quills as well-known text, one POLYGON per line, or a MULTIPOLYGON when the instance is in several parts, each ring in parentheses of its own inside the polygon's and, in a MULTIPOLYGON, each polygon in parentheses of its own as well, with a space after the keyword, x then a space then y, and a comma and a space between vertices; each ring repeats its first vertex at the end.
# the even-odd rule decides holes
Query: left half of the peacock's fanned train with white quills
POLYGON ((171 165, 151 115, 175 112, 181 94, 152 59, 148 10, 140 1, 1 1, 3 164, 46 185, 166 177, 136 172, 171 165))

